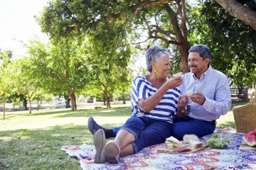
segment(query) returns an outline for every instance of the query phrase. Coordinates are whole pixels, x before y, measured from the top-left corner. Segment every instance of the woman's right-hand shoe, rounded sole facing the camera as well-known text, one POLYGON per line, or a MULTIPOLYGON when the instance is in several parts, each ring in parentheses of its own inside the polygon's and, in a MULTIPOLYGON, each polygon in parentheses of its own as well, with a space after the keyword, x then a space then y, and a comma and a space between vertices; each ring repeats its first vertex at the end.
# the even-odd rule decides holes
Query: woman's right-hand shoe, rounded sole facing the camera
POLYGON ((114 141, 107 142, 104 148, 104 154, 108 163, 118 164, 120 148, 114 141))

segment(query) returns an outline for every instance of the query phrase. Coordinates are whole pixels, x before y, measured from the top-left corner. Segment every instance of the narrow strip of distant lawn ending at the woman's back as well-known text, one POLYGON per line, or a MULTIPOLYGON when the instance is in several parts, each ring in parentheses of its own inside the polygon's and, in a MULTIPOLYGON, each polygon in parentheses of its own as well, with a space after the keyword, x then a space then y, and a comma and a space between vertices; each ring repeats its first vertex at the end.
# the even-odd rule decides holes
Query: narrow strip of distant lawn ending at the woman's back
POLYGON ((55 118, 85 117, 85 116, 86 117, 91 117, 91 116, 114 117, 114 116, 129 116, 129 115, 132 115, 131 107, 122 107, 122 108, 80 110, 73 113, 56 115, 55 118))

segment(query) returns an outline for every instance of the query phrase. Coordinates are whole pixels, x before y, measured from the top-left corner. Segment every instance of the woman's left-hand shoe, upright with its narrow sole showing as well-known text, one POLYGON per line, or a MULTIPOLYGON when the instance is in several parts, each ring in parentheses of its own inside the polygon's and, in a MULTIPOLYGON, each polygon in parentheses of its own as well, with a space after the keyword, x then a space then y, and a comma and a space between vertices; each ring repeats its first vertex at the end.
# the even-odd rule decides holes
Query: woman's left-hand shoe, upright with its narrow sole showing
POLYGON ((106 145, 106 137, 105 137, 104 130, 100 129, 95 133, 94 145, 96 149, 95 163, 103 164, 107 162, 107 158, 105 157, 105 154, 104 154, 104 148, 106 145))

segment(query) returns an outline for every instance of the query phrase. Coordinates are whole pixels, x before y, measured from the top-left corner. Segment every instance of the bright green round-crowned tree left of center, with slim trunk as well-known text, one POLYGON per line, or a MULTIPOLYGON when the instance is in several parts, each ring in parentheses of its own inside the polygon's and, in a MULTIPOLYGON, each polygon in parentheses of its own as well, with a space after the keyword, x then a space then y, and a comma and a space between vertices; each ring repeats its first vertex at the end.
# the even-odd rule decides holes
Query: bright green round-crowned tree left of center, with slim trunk
POLYGON ((85 89, 90 81, 87 65, 87 52, 76 38, 51 40, 49 45, 31 41, 29 52, 33 58, 32 68, 36 79, 40 79, 41 88, 48 93, 70 96, 71 109, 77 109, 75 93, 85 89))

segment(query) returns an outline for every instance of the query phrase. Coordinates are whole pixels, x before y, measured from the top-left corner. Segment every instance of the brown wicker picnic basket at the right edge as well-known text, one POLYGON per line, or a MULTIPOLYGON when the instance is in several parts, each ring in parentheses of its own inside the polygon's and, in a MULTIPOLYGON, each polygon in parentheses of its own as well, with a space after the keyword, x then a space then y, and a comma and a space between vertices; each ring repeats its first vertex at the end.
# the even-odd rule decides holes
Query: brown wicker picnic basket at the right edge
POLYGON ((250 103, 233 108, 235 129, 237 132, 250 132, 256 129, 256 93, 250 96, 250 103), (255 98, 253 98, 255 96, 255 98))

